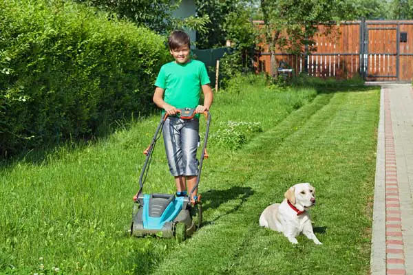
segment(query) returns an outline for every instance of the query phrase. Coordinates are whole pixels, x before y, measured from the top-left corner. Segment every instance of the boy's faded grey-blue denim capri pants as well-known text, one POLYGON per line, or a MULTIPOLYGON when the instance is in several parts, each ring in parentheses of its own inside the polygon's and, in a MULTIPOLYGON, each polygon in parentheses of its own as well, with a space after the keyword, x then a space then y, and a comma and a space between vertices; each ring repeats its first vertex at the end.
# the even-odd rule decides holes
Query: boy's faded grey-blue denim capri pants
POLYGON ((198 118, 182 120, 169 116, 162 127, 169 171, 173 176, 198 175, 196 153, 199 144, 198 118))

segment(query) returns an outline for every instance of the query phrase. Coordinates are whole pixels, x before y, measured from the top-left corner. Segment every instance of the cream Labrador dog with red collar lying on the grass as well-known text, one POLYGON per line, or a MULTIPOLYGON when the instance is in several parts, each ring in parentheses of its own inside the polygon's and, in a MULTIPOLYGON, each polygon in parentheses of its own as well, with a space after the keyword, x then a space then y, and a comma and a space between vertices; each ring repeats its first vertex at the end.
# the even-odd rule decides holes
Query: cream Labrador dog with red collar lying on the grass
POLYGON ((290 243, 297 244, 295 238, 302 232, 316 245, 321 245, 308 213, 308 208, 315 205, 315 188, 308 183, 295 184, 284 197, 282 203, 273 203, 265 208, 260 216, 260 226, 282 232, 290 243))

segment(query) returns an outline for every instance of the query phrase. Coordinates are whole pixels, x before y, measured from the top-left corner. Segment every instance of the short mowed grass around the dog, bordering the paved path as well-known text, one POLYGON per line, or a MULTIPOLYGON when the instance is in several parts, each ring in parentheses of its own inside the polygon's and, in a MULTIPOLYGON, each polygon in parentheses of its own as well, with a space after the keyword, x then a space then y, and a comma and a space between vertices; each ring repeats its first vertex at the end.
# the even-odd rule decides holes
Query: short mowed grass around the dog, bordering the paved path
MULTIPOLYGON (((317 100, 313 104, 317 104, 317 100)), ((257 157, 253 158, 251 154, 234 162, 235 166, 255 163, 256 174, 240 183, 244 187, 251 187, 253 195, 244 201, 233 201, 233 207, 238 207, 236 212, 222 217, 213 225, 207 225, 187 243, 180 245, 176 252, 171 252, 162 262, 156 274, 184 274, 193 265, 191 263, 196 263, 196 267, 190 270, 201 274, 306 274, 315 270, 320 274, 343 274, 346 273, 344 269, 351 274, 363 274, 368 261, 368 249, 363 248, 366 246, 363 245, 363 239, 366 238, 363 230, 370 226, 370 217, 364 212, 364 206, 368 202, 368 194, 372 192, 377 102, 377 92, 335 94, 330 104, 310 115, 311 119, 304 126, 300 115, 306 113, 305 109, 310 109, 313 104, 293 113, 275 129, 258 137, 253 150, 261 147, 262 151, 257 157), (303 127, 298 129, 299 125, 303 127), (288 129, 295 131, 286 136, 278 149, 273 150, 274 144, 268 135, 282 136, 288 129), (358 132, 359 137, 368 137, 365 145, 359 147, 368 150, 354 150, 354 147, 363 144, 363 140, 354 139, 354 131, 358 132), (264 142, 257 146, 260 140, 264 142), (313 143, 317 140, 318 144, 313 143), (341 142, 343 148, 337 150, 329 146, 337 142, 341 142), (332 153, 339 157, 336 159, 332 153), (323 155, 327 160, 319 162, 317 156, 323 155), (368 175, 366 166, 354 161, 359 158, 368 163, 368 175), (313 162, 315 160, 317 162, 313 162), (349 162, 350 174, 341 170, 343 162, 349 162), (346 177, 353 177, 354 172, 359 172, 361 176, 356 174, 353 182, 346 186, 350 181, 346 177), (318 233, 321 241, 326 240, 322 247, 315 247, 304 238, 299 239, 300 245, 293 247, 281 234, 260 229, 257 225, 260 212, 268 203, 280 201, 288 184, 304 179, 314 182, 321 191, 319 206, 313 210, 313 217, 316 225, 318 223, 321 226, 320 230, 325 230, 324 234, 318 233), (342 186, 348 190, 340 188, 342 186), (339 209, 334 214, 335 211, 331 213, 330 208, 326 207, 328 203, 337 203, 335 199, 340 197, 339 207, 346 206, 346 199, 357 194, 360 195, 357 198, 359 203, 354 205, 353 200, 350 203, 350 208, 357 208, 352 209, 354 214, 339 209), (324 199, 330 195, 332 199, 324 199), (341 219, 341 222, 337 224, 335 219, 341 219), (347 227, 347 223, 352 220, 355 224, 347 227), (297 257, 307 266, 304 270, 301 270, 301 262, 297 263, 297 257), (333 263, 328 263, 328 259, 333 263)), ((279 141, 274 140, 277 147, 279 141)))

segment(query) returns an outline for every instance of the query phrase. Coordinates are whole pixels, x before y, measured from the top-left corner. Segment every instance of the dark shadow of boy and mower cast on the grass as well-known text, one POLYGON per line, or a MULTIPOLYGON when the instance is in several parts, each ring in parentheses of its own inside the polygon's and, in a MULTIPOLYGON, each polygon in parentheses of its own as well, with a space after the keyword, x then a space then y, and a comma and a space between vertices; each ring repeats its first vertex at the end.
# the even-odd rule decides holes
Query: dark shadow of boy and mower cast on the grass
POLYGON ((208 190, 207 192, 202 193, 202 200, 207 201, 202 205, 202 210, 208 209, 215 209, 218 208, 222 203, 226 203, 233 200, 240 200, 233 208, 223 212, 222 214, 218 215, 211 221, 206 221, 203 225, 207 225, 217 221, 218 219, 226 216, 227 214, 231 214, 236 212, 238 209, 241 208, 242 204, 254 194, 254 191, 251 187, 242 187, 242 186, 233 186, 226 190, 208 190))

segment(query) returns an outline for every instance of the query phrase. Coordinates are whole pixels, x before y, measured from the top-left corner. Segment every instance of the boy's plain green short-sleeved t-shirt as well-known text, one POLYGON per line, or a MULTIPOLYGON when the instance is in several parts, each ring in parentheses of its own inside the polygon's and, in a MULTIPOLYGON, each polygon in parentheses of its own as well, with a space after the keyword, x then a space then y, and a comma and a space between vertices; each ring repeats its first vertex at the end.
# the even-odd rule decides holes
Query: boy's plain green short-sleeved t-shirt
POLYGON ((195 108, 200 102, 201 85, 211 83, 207 68, 201 61, 185 64, 175 61, 160 68, 155 86, 165 90, 164 100, 178 109, 195 108))

